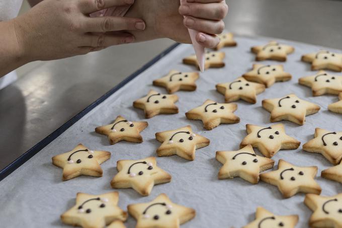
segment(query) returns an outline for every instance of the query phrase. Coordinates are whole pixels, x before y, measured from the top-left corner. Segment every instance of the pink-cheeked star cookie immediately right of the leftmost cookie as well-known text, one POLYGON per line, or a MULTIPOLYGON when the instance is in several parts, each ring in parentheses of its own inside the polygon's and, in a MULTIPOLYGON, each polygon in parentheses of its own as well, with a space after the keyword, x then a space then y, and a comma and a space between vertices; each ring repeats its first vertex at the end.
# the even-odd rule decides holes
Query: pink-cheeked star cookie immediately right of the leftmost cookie
POLYGON ((149 195, 154 185, 171 181, 171 176, 157 167, 154 157, 119 160, 116 168, 119 173, 111 181, 112 188, 133 188, 143 196, 149 195))

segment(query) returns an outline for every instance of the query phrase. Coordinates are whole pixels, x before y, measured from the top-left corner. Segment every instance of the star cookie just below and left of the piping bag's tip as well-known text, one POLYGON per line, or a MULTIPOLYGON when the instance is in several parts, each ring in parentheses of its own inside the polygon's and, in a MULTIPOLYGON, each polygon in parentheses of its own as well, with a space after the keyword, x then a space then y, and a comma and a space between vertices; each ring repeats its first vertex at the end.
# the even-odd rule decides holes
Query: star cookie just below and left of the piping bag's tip
POLYGON ((154 80, 153 85, 164 87, 169 94, 173 94, 179 90, 194 91, 196 90, 195 82, 198 78, 198 72, 171 70, 164 77, 154 80))

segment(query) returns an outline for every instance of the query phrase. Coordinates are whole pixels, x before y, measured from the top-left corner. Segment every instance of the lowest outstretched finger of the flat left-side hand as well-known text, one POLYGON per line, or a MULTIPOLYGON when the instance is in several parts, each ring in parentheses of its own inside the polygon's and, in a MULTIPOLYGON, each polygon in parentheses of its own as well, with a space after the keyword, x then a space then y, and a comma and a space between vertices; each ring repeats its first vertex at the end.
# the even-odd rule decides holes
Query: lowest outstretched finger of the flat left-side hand
POLYGON ((129 33, 117 33, 116 35, 109 34, 91 34, 84 39, 83 46, 89 47, 109 47, 119 44, 127 44, 134 42, 135 38, 129 33))

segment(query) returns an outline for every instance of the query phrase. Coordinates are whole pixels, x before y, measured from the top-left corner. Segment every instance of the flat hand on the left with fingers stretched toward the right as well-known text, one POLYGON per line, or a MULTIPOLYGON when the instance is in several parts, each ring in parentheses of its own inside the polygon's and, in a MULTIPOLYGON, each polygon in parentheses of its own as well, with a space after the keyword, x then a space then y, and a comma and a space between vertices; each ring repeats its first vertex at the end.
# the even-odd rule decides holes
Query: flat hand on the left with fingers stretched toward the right
POLYGON ((131 43, 135 38, 128 32, 144 30, 143 20, 91 18, 89 14, 133 3, 134 0, 44 0, 13 20, 20 56, 27 61, 51 60, 131 43))

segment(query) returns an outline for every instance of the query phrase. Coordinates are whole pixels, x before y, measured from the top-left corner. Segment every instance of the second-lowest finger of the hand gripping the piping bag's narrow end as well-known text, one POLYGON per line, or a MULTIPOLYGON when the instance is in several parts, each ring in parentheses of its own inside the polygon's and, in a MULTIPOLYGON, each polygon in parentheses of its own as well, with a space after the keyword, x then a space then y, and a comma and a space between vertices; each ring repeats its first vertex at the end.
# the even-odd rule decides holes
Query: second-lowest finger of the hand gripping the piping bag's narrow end
POLYGON ((211 21, 193 17, 185 17, 183 20, 185 27, 208 34, 221 34, 224 30, 223 21, 211 21))

